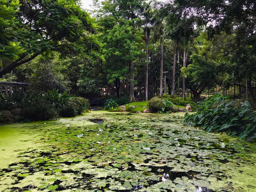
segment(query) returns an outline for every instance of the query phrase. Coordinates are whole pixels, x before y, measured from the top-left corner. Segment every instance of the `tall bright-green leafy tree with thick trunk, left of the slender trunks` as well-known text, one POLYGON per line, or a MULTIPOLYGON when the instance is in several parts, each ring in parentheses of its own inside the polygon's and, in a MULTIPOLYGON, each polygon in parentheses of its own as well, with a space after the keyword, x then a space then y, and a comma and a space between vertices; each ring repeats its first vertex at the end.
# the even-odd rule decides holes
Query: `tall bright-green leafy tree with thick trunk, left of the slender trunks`
MULTIPOLYGON (((125 72, 126 76, 119 76, 121 71, 112 73, 118 78, 126 78, 129 82, 130 100, 134 97, 134 61, 142 54, 142 31, 138 28, 140 17, 145 9, 145 0, 107 0, 102 2, 98 16, 102 26, 102 41, 105 44, 105 58, 109 65, 125 72)), ((114 82, 114 80, 112 81, 114 82)))

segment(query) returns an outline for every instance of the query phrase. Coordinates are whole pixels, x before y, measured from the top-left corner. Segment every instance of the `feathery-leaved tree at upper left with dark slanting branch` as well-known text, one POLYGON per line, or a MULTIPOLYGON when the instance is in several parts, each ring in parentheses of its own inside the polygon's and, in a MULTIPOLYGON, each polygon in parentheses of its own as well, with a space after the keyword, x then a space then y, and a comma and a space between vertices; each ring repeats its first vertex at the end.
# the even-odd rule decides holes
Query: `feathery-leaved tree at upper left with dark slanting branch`
POLYGON ((98 50, 90 15, 73 0, 1 0, 0 76, 47 51, 63 54, 98 50), (3 12, 2 12, 3 10, 3 12), (11 60, 3 63, 3 58, 11 60))

